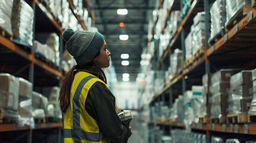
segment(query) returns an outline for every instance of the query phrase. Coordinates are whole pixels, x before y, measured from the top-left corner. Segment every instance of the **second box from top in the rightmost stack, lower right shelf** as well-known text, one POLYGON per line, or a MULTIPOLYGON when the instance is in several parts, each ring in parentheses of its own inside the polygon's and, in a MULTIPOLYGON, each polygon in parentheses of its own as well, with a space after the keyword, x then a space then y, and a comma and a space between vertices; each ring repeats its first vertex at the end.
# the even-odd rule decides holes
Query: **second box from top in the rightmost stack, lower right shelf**
POLYGON ((230 89, 229 92, 231 94, 240 95, 241 97, 251 97, 253 95, 252 85, 241 85, 230 89))

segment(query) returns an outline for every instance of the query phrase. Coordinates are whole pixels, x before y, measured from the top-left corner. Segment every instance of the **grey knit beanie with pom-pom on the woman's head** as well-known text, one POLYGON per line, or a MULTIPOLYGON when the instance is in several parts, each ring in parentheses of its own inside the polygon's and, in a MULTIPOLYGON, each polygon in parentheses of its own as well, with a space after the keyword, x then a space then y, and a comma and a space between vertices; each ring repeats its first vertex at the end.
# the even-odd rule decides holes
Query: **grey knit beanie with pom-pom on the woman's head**
POLYGON ((79 66, 86 66, 100 51, 104 37, 99 32, 88 32, 84 30, 65 29, 63 39, 66 49, 72 55, 79 66))

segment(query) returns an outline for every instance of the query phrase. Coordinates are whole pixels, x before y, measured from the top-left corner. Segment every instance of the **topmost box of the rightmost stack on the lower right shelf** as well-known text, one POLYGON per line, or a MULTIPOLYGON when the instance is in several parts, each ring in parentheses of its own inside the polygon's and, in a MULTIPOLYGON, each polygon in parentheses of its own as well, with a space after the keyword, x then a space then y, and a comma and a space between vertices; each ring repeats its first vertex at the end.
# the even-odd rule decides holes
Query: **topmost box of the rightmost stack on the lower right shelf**
POLYGON ((235 88, 240 85, 252 86, 252 71, 243 70, 234 74, 230 78, 230 88, 235 88))

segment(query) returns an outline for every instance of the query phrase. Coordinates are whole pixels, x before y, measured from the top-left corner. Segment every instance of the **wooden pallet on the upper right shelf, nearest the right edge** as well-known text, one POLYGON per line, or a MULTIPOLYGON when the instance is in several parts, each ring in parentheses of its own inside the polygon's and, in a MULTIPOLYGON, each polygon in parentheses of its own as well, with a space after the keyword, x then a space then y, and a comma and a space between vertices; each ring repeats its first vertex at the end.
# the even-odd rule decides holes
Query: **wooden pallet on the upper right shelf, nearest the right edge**
POLYGON ((228 23, 226 24, 226 32, 229 32, 246 14, 248 14, 252 10, 251 5, 243 5, 240 10, 236 12, 236 14, 230 18, 228 23))

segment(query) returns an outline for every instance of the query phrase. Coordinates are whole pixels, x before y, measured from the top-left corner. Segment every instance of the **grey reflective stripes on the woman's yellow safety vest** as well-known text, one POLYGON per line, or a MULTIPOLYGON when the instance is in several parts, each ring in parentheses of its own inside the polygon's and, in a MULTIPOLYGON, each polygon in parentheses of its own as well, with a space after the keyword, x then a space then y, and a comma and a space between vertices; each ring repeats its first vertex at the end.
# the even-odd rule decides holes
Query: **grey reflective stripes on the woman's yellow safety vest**
POLYGON ((84 88, 85 83, 90 79, 95 78, 94 76, 87 76, 79 83, 78 88, 76 88, 73 97, 73 129, 63 129, 64 138, 73 138, 74 142, 81 142, 81 139, 86 139, 87 141, 99 142, 103 140, 103 135, 101 132, 85 132, 80 129, 80 111, 79 111, 79 97, 81 91, 84 88))

